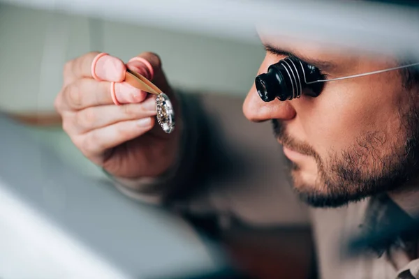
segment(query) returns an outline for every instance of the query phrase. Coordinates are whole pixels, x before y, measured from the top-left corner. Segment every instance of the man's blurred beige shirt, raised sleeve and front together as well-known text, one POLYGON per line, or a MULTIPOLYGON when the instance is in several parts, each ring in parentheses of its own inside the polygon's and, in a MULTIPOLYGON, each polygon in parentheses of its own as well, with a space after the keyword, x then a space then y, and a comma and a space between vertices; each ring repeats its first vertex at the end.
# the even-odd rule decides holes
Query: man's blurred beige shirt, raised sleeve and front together
MULTIPOLYGON (((391 255, 386 253, 382 257, 346 257, 341 244, 359 229, 369 199, 339 209, 309 209, 300 202, 287 179, 284 154, 272 136, 270 123, 247 121, 242 114, 242 99, 202 96, 202 107, 191 100, 185 98, 183 103, 185 114, 189 116, 185 123, 185 134, 188 136, 184 137, 179 158, 186 157, 196 162, 187 164, 185 161, 188 160, 183 163, 179 160, 174 167, 175 171, 160 179, 115 179, 115 185, 122 193, 145 202, 166 204, 173 210, 196 216, 214 213, 219 217, 221 226, 225 227, 233 224, 234 220, 253 227, 311 224, 318 270, 323 279, 395 279, 407 269, 413 277, 400 278, 419 279, 419 259, 412 261, 400 250, 392 251, 391 255), (218 123, 208 123, 205 120, 207 115, 218 123), (214 133, 202 132, 203 127, 211 125, 220 130, 214 133), (214 140, 212 137, 215 133, 223 135, 222 139, 214 140), (200 137, 198 140, 197 135, 200 137), (214 147, 209 144, 209 137, 212 142, 223 142, 226 147, 223 152, 227 154, 228 160, 221 169, 226 168, 230 172, 230 167, 233 167, 233 174, 221 176, 219 170, 215 169, 219 165, 208 163, 211 159, 208 156, 216 156, 217 152, 221 152, 218 145, 214 147), (205 144, 199 147, 199 140, 205 144), (196 148, 200 148, 200 151, 196 151, 196 148), (203 153, 210 155, 205 157, 203 153), (197 169, 197 162, 204 163, 204 167, 197 169), (184 165, 188 167, 185 169, 184 165), (235 169, 235 165, 239 167, 235 169), (182 172, 183 179, 178 175, 182 172), (189 177, 193 178, 193 183, 187 182, 189 177), (200 183, 196 183, 200 179, 205 181, 202 188, 200 183), (182 193, 186 193, 184 197, 167 194, 177 193, 179 187, 182 193), (194 191, 196 188, 198 191, 194 191), (189 190, 193 195, 187 194, 189 190)), ((403 201, 403 195, 399 197, 399 201, 403 201)))

